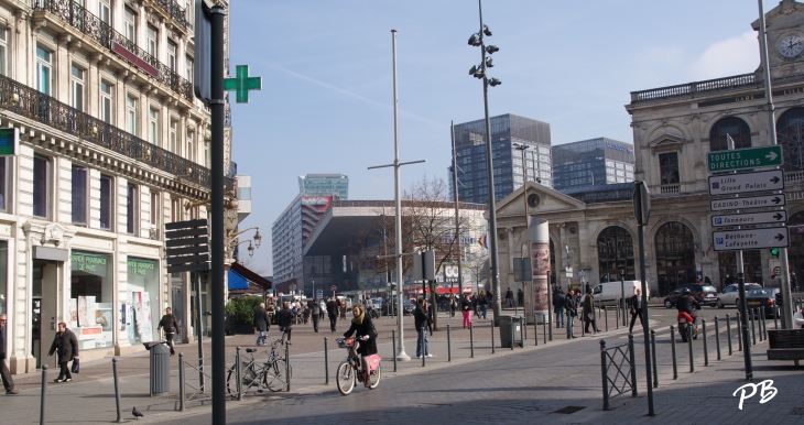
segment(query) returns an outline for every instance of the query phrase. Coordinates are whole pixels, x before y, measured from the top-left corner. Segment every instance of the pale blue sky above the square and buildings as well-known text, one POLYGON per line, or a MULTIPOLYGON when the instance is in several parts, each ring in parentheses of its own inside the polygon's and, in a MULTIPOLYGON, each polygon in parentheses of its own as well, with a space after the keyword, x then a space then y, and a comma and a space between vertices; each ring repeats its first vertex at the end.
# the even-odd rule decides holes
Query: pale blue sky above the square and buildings
MULTIPOLYGON (((484 118, 475 0, 233 0, 230 72, 249 65, 262 90, 232 105, 232 156, 251 176, 240 228, 264 236, 248 266, 273 273, 271 226, 298 194, 297 176, 349 176, 349 199, 393 199, 392 35, 402 188, 448 178, 449 124, 484 118)), ((765 0, 765 11, 779 4, 765 0)), ((486 0, 497 45, 491 117, 551 124, 552 143, 607 137, 633 143, 630 92, 759 67, 754 0, 486 0)), ((233 96, 231 96, 233 100, 233 96)), ((245 236, 249 236, 248 233, 245 236)))

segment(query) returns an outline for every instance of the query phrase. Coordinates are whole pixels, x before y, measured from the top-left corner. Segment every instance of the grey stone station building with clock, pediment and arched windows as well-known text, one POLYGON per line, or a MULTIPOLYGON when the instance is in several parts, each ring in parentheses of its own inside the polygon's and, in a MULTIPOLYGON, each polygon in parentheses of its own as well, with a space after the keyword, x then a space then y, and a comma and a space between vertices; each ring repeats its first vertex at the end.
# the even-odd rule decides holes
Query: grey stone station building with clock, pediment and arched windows
MULTIPOLYGON (((774 119, 782 145, 789 226, 804 225, 804 4, 783 0, 767 15, 774 119)), ((759 29, 759 20, 751 23, 759 29)), ((759 48, 758 48, 759 51, 759 48)), ((759 63, 759 56, 758 61, 759 63)), ((715 252, 707 189, 706 154, 771 144, 762 67, 750 74, 631 92, 637 181, 651 192, 651 217, 644 228, 647 280, 654 296, 677 284, 709 277, 720 290, 737 273, 734 252, 715 252)), ((528 215, 550 222, 552 270, 566 288, 640 280, 639 244, 633 218, 633 184, 602 185, 557 193, 526 184, 528 215), (567 249, 571 254, 567 258, 567 249)), ((513 282, 512 259, 526 257, 523 241, 523 188, 500 200, 498 237, 501 285, 513 282)), ((804 229, 791 228, 790 269, 804 271, 804 229)), ((743 251, 748 282, 779 285, 771 279, 768 249, 743 251)))

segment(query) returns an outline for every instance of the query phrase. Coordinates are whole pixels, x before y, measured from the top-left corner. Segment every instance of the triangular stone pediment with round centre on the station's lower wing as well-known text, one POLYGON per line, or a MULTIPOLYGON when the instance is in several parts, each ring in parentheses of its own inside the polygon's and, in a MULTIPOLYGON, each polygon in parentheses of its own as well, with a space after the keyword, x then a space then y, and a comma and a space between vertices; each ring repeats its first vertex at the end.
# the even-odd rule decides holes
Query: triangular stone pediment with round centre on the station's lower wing
MULTIPOLYGON (((586 209, 586 204, 539 183, 528 182, 528 212, 546 214, 586 209)), ((523 188, 520 187, 497 203, 497 216, 522 216, 525 209, 523 188)))

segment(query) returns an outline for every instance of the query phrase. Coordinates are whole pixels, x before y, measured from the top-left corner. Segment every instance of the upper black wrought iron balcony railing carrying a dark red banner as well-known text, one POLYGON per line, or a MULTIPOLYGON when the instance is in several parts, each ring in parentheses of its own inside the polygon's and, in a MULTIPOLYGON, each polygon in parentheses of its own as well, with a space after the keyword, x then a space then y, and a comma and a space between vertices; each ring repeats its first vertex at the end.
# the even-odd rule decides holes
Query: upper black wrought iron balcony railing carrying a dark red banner
POLYGON ((193 85, 189 81, 75 1, 36 0, 34 9, 53 13, 100 45, 140 67, 160 83, 169 86, 171 90, 187 100, 193 100, 193 85))

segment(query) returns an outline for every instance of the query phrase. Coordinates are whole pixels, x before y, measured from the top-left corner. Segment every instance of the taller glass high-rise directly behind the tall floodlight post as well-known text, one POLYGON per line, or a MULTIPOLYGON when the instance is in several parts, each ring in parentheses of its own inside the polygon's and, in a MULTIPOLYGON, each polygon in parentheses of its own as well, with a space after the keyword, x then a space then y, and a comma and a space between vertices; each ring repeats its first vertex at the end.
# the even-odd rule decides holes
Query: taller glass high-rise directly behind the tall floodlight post
MULTIPOLYGON (((553 186, 548 123, 506 113, 491 117, 490 127, 496 200, 521 187, 524 177, 529 182, 553 186), (517 144, 529 146, 524 151, 524 166, 522 152, 515 148, 517 144)), ((489 197, 486 122, 465 122, 456 124, 454 130, 453 155, 457 154, 458 197, 465 203, 484 204, 489 197)), ((455 190, 453 182, 450 178, 450 188, 455 190)))

